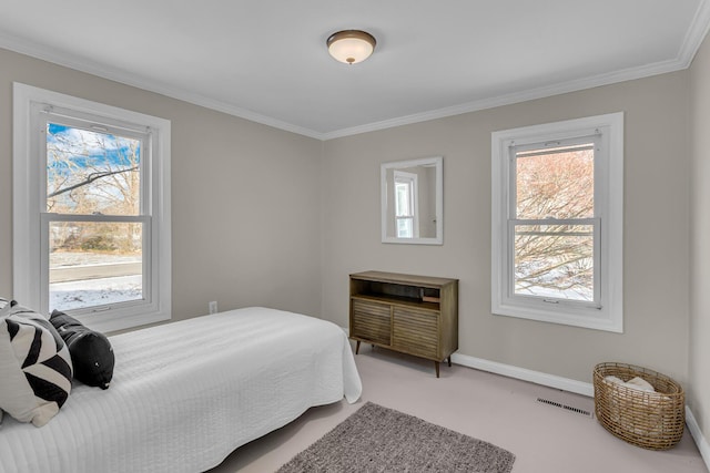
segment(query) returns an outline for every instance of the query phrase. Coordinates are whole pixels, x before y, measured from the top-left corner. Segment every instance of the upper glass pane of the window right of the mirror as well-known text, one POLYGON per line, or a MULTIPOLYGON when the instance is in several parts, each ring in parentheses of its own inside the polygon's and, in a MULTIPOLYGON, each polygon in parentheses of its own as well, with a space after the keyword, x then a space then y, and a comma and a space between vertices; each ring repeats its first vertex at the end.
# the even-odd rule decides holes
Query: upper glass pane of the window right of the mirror
POLYGON ((517 218, 594 217, 594 144, 532 150, 516 157, 517 218))

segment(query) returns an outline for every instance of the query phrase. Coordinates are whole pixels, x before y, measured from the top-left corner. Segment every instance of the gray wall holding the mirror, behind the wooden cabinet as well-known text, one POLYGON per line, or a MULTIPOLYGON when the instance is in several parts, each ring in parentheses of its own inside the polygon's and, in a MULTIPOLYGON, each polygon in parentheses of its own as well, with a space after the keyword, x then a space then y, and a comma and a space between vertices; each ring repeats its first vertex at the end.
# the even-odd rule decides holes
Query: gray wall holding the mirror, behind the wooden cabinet
POLYGON ((348 278, 459 279, 459 353, 591 382, 601 361, 688 380, 688 71, 325 142, 323 317, 346 326, 348 278), (622 111, 625 332, 490 312, 490 133, 622 111), (444 245, 379 241, 379 164, 444 156, 444 245), (349 178, 343 182, 342 176, 349 178))

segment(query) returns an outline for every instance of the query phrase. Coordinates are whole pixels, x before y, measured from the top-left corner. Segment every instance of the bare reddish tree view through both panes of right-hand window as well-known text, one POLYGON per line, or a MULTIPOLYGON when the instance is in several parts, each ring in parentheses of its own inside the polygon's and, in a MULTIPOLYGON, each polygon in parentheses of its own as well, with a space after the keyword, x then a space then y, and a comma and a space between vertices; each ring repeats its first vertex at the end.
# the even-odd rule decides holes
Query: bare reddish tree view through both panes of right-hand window
POLYGON ((594 144, 516 155, 516 294, 594 300, 594 144))

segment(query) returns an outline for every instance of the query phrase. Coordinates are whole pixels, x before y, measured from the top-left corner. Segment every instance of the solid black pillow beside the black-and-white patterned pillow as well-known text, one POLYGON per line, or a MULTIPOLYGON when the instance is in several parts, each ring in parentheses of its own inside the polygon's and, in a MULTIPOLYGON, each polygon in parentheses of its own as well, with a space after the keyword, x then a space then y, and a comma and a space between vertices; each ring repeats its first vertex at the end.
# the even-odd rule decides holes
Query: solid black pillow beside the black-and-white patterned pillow
POLYGON ((49 319, 69 347, 74 378, 88 385, 108 389, 113 378, 113 348, 109 339, 59 310, 49 319))

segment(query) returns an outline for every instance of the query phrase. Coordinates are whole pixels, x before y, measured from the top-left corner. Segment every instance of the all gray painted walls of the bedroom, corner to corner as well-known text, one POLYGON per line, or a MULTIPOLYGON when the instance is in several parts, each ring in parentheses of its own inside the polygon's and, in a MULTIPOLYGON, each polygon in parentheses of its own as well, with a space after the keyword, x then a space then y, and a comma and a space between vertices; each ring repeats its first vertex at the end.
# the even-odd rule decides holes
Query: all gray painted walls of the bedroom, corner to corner
POLYGON ((710 392, 710 269, 696 263, 710 259, 708 41, 689 71, 325 143, 4 50, 0 64, 1 295, 12 295, 18 81, 172 121, 174 319, 217 300, 221 309, 265 305, 347 326, 349 273, 455 277, 460 353, 586 382, 599 361, 648 366, 689 388, 709 431, 701 393, 710 392), (625 332, 493 316, 490 132, 618 111, 626 112, 625 332), (437 155, 444 245, 382 244, 379 164, 437 155))

